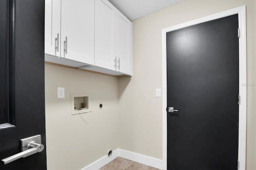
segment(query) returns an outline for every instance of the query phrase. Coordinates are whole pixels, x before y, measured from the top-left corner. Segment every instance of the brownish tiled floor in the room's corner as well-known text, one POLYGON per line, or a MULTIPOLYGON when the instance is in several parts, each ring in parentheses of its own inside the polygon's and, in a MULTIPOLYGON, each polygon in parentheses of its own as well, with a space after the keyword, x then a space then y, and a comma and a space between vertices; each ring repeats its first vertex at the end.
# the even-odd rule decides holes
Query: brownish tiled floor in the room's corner
POLYGON ((151 166, 140 164, 132 160, 117 157, 105 166, 102 166, 100 170, 159 170, 151 166))

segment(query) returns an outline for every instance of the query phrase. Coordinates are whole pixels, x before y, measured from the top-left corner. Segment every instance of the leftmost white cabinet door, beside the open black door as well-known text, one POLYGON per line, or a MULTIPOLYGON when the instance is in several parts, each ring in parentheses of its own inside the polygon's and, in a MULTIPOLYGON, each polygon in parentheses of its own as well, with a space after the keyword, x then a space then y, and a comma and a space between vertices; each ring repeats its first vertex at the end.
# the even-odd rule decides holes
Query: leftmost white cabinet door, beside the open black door
POLYGON ((45 0, 44 53, 60 57, 60 0, 45 0))

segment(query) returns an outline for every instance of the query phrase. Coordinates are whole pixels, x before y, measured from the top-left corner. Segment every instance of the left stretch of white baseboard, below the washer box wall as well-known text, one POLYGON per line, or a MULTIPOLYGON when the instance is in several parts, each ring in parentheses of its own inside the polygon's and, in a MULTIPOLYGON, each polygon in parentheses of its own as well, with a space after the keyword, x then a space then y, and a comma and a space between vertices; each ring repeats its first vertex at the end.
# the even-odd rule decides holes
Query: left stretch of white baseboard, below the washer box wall
POLYGON ((116 159, 119 156, 119 149, 116 149, 112 152, 111 156, 103 156, 102 158, 96 160, 95 162, 91 163, 90 165, 84 167, 82 170, 98 170, 102 166, 108 164, 112 160, 116 159))

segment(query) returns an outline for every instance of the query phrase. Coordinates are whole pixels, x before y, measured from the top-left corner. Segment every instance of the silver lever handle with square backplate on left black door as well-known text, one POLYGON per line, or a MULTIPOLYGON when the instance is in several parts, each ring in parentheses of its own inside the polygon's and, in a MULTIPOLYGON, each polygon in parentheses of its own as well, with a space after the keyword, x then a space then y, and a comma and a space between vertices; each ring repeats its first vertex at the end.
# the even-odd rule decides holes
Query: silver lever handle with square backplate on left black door
POLYGON ((12 155, 8 158, 2 159, 4 164, 8 164, 19 158, 24 158, 26 156, 30 156, 32 154, 35 154, 37 152, 42 152, 44 150, 44 145, 41 144, 41 135, 24 138, 24 139, 21 139, 20 141, 22 144, 22 152, 12 155))

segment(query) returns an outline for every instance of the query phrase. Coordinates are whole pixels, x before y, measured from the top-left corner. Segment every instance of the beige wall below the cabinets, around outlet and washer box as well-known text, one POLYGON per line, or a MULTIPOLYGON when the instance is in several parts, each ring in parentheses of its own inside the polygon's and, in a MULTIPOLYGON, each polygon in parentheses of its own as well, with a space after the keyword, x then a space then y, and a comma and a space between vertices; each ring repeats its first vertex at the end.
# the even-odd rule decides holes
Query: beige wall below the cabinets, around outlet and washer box
POLYGON ((118 148, 118 78, 45 64, 45 107, 48 170, 79 170, 118 148), (71 115, 72 93, 89 93, 92 113, 71 115))

